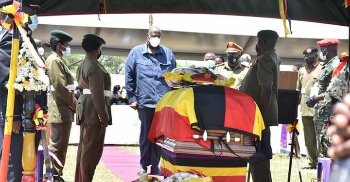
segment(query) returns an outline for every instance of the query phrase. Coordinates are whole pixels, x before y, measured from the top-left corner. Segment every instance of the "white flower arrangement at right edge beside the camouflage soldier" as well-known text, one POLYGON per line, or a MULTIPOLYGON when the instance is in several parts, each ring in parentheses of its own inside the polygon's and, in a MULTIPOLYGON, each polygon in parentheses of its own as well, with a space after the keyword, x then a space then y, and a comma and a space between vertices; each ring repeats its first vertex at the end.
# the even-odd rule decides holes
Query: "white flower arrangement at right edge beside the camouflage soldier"
POLYGON ((327 87, 324 100, 326 102, 332 102, 334 99, 341 101, 347 93, 346 85, 345 70, 343 69, 332 78, 331 83, 327 87))

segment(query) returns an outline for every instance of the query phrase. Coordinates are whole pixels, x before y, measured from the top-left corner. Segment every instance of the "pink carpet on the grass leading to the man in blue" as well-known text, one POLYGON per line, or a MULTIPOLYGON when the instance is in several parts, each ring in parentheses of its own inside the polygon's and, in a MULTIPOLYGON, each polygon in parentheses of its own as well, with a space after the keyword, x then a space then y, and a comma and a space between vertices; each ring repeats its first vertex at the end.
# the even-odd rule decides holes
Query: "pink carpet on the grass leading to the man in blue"
MULTIPOLYGON (((131 182, 139 178, 137 172, 140 170, 140 155, 131 151, 116 146, 105 146, 101 162, 124 182, 131 182)), ((149 172, 150 167, 148 167, 149 172)), ((163 179, 160 176, 157 178, 163 179)))

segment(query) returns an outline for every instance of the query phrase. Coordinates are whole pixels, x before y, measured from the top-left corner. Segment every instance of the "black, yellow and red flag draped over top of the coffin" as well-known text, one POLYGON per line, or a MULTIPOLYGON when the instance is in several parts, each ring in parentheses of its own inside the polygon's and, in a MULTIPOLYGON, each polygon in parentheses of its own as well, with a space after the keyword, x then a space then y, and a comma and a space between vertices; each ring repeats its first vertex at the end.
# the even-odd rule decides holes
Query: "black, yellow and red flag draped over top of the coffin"
POLYGON ((242 133, 261 140, 265 128, 259 107, 238 90, 216 85, 198 85, 168 92, 158 102, 148 139, 162 135, 177 141, 198 142, 210 149, 210 141, 193 139, 203 130, 242 133))

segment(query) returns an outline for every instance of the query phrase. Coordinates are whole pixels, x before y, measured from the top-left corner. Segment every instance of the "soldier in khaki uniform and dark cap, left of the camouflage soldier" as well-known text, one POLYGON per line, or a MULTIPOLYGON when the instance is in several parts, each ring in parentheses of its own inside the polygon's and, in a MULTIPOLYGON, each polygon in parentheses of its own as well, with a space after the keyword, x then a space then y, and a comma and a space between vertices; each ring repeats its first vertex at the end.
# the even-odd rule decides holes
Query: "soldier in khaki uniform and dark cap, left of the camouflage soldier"
POLYGON ((318 49, 315 46, 303 51, 305 65, 298 72, 297 89, 301 93, 301 119, 304 126, 305 145, 310 160, 308 169, 315 169, 317 165, 317 142, 314 125, 314 110, 305 104, 306 98, 310 96, 311 88, 317 82, 322 66, 318 62, 318 49))

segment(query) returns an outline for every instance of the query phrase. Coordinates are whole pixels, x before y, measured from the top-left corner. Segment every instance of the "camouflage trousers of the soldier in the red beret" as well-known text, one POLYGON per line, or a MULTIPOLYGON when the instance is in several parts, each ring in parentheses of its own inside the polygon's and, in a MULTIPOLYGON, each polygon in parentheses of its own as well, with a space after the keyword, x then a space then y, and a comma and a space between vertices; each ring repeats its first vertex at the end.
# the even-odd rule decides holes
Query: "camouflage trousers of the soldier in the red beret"
POLYGON ((327 150, 332 144, 331 138, 326 135, 327 124, 329 123, 329 117, 333 115, 333 105, 317 103, 314 109, 318 157, 327 157, 327 150))

